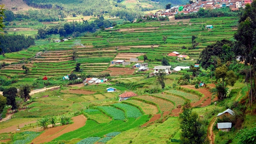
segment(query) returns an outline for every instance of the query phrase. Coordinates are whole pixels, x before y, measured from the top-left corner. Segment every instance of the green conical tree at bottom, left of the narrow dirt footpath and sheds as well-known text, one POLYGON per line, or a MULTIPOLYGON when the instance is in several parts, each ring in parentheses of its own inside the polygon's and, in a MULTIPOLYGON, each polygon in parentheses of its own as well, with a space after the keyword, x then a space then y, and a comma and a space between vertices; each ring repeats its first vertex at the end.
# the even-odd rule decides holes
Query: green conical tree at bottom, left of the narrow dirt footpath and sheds
POLYGON ((182 106, 183 112, 180 114, 181 144, 202 144, 206 138, 206 131, 199 121, 196 112, 192 112, 191 104, 186 101, 182 106))

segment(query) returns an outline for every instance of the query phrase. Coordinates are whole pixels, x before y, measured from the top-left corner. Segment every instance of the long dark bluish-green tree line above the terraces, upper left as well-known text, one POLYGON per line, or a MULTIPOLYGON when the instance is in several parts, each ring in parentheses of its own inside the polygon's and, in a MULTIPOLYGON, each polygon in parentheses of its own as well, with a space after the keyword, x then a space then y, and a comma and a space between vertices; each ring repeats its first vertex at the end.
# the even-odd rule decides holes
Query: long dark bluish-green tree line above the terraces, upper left
POLYGON ((99 19, 94 20, 89 23, 87 20, 82 22, 73 21, 70 23, 56 24, 54 26, 47 26, 44 29, 38 29, 38 33, 35 38, 46 38, 50 34, 60 34, 61 37, 64 37, 67 34, 80 34, 83 32, 95 32, 99 27, 108 28, 112 26, 112 22, 109 20, 104 20, 103 16, 100 16, 99 19))

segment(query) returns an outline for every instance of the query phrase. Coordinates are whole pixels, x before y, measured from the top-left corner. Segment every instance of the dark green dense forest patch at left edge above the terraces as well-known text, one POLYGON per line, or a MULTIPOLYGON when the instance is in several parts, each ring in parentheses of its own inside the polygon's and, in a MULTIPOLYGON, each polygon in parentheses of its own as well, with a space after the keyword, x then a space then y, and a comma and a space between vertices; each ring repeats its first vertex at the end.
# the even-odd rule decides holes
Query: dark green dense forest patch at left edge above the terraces
POLYGON ((25 35, 0 35, 0 48, 4 53, 18 52, 35 45, 35 39, 25 35))

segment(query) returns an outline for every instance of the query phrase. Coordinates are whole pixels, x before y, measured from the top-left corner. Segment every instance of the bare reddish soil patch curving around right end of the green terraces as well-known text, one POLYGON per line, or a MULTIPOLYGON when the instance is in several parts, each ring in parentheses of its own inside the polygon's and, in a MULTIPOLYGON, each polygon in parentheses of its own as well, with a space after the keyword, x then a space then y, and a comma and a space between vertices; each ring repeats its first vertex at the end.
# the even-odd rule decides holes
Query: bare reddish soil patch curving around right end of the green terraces
POLYGON ((189 89, 192 89, 192 90, 195 90, 195 91, 199 91, 202 94, 204 94, 204 97, 201 98, 200 101, 191 104, 193 107, 194 106, 199 106, 199 105, 201 107, 204 107, 204 106, 208 106, 208 105, 211 104, 212 94, 210 93, 210 91, 207 90, 207 88, 195 88, 195 87, 191 87, 191 86, 181 86, 181 87, 189 88, 189 89), (204 99, 206 99, 206 100, 204 101, 204 99))

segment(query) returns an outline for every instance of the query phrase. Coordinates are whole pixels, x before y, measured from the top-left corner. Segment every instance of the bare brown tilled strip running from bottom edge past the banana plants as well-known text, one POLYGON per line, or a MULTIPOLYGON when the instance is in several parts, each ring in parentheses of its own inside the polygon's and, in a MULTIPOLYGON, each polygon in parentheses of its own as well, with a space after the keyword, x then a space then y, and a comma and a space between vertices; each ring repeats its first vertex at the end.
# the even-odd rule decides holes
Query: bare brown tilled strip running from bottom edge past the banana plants
POLYGON ((41 144, 41 143, 45 143, 45 142, 50 142, 53 139, 56 139, 57 137, 61 136, 64 133, 68 133, 68 132, 71 132, 71 131, 81 128, 82 126, 85 125, 85 122, 87 120, 87 118, 85 118, 83 115, 78 115, 78 116, 72 117, 72 119, 74 122, 73 124, 67 125, 66 127, 59 126, 60 128, 59 127, 51 128, 51 129, 45 131, 44 133, 42 133, 36 139, 34 139, 32 141, 32 143, 41 144))

